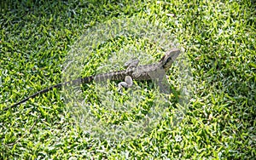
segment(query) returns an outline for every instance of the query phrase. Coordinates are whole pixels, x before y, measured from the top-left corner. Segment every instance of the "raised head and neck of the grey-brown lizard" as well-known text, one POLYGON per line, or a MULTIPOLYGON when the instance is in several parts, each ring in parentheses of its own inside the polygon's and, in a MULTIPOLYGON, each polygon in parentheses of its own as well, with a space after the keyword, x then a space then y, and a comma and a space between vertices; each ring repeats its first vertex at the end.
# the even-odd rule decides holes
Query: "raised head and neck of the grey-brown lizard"
POLYGON ((160 65, 163 66, 165 71, 168 71, 172 66, 174 60, 176 60, 177 56, 180 54, 180 49, 171 49, 168 51, 160 60, 160 65))

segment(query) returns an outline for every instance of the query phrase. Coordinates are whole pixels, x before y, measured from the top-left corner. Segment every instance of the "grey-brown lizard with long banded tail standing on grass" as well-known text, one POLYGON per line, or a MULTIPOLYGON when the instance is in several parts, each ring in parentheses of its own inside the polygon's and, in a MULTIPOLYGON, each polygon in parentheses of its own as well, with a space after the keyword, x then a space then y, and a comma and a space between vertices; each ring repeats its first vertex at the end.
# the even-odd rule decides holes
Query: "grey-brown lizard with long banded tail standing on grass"
POLYGON ((53 89, 60 89, 63 86, 67 85, 79 85, 83 83, 90 83, 92 81, 96 82, 102 82, 106 80, 110 81, 123 81, 118 84, 118 90, 124 88, 130 88, 132 86, 132 80, 136 81, 143 81, 143 80, 151 80, 153 75, 156 75, 159 79, 163 78, 164 75, 158 75, 158 71, 168 71, 169 68, 172 66, 172 63, 174 60, 176 60, 177 56, 181 53, 180 49, 171 49, 169 50, 161 59, 159 62, 150 64, 150 65, 143 65, 138 66, 139 60, 130 60, 125 63, 125 66, 127 67, 125 70, 121 71, 113 71, 108 73, 102 73, 95 76, 90 77, 79 77, 78 79, 71 80, 64 83, 57 83, 53 86, 50 86, 49 88, 43 89, 38 91, 35 94, 32 94, 28 97, 26 97, 23 100, 20 100, 19 102, 15 103, 13 106, 9 106, 3 109, 3 111, 9 110, 9 108, 14 108, 15 106, 19 106, 20 104, 26 102, 27 100, 30 100, 32 98, 35 98, 39 94, 44 94, 46 92, 49 92, 53 89))

